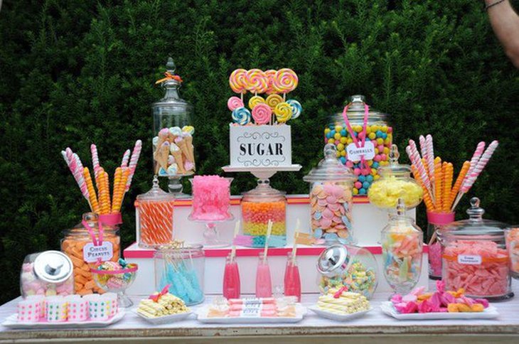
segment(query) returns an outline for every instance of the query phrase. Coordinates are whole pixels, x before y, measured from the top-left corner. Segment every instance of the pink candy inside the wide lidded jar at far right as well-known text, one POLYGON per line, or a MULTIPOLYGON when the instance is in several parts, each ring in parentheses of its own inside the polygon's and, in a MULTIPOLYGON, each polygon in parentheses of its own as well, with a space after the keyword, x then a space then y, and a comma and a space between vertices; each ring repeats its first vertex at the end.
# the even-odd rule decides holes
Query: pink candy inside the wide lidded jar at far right
POLYGON ((442 280, 447 289, 464 289, 468 296, 503 296, 510 289, 508 252, 496 242, 455 240, 447 242, 443 253, 442 280), (481 264, 464 264, 467 258, 481 264))

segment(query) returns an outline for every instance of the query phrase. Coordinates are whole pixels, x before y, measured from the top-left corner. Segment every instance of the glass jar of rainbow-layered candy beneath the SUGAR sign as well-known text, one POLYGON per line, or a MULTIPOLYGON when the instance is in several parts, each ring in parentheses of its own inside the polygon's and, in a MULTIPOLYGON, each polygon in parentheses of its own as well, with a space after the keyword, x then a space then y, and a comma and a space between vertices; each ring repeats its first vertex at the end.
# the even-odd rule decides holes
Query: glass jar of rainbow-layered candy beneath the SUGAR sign
POLYGON ((257 187, 243 194, 243 234, 250 236, 250 247, 264 247, 267 225, 272 220, 269 247, 284 247, 287 244, 287 198, 284 192, 270 186, 268 179, 260 179, 257 187))

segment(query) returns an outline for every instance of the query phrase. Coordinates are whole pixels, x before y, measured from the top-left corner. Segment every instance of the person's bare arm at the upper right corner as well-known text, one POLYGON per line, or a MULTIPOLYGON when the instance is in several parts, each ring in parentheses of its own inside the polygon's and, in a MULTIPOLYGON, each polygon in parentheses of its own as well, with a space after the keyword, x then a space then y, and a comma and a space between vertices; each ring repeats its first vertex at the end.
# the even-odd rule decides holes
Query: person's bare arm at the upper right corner
MULTIPOLYGON (((495 4, 498 0, 485 0, 485 4, 495 4)), ((515 67, 519 68, 519 16, 515 13, 510 0, 491 6, 488 16, 494 33, 503 45, 506 55, 515 67)))

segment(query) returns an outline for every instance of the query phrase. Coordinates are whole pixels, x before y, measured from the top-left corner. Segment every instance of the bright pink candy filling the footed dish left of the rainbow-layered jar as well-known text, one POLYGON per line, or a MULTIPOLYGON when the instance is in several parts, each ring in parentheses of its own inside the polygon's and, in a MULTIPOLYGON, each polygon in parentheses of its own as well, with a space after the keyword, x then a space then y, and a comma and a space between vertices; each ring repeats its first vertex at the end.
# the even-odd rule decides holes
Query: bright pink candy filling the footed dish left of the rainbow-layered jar
POLYGON ((193 178, 193 220, 226 220, 230 217, 230 181, 220 176, 193 178))

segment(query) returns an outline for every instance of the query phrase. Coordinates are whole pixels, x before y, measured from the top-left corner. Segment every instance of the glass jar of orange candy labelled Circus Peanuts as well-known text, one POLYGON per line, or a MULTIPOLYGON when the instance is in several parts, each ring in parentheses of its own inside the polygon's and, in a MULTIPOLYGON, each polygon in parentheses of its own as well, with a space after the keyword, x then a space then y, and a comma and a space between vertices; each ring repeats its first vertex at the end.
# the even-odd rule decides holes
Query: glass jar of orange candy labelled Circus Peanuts
MULTIPOLYGON (((102 218, 102 217, 101 217, 102 218)), ((97 214, 85 213, 82 222, 63 232, 61 252, 74 266, 75 294, 104 293, 92 277, 91 268, 99 262, 117 262, 121 257, 121 239, 117 225, 106 225, 97 214), (102 228, 102 235, 100 232, 102 228)))

